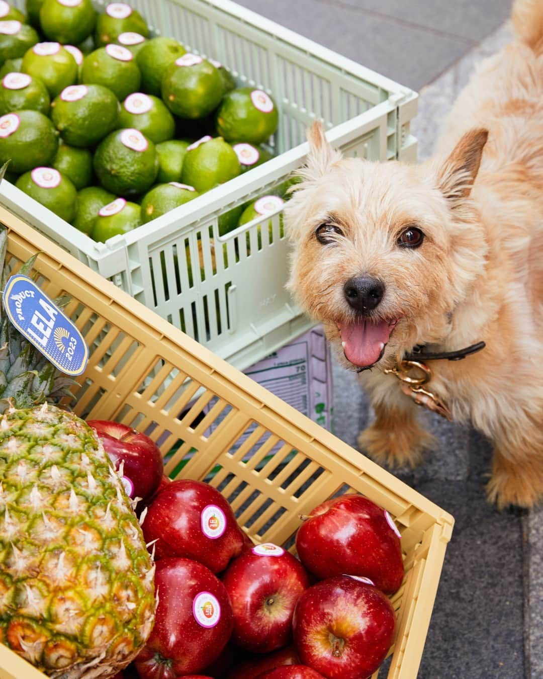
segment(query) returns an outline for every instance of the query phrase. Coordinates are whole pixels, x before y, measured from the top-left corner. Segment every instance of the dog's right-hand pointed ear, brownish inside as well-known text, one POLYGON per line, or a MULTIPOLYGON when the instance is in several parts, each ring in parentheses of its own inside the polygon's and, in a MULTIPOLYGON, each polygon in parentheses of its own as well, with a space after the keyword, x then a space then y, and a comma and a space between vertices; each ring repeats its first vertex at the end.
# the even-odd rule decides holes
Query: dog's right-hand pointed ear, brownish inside
POLYGON ((438 186, 453 206, 470 195, 487 139, 488 130, 483 128, 466 132, 441 166, 438 186))

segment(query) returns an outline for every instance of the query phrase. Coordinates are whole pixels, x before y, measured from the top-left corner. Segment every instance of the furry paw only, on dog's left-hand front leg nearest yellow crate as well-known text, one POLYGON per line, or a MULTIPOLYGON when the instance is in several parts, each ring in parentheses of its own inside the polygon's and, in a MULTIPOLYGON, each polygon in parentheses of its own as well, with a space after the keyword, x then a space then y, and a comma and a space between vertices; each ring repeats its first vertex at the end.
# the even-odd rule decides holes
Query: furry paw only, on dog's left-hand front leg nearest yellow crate
POLYGON ((373 424, 360 433, 360 450, 380 464, 390 469, 400 466, 415 467, 422 462, 422 453, 432 447, 434 437, 428 434, 417 422, 398 429, 383 429, 373 424))

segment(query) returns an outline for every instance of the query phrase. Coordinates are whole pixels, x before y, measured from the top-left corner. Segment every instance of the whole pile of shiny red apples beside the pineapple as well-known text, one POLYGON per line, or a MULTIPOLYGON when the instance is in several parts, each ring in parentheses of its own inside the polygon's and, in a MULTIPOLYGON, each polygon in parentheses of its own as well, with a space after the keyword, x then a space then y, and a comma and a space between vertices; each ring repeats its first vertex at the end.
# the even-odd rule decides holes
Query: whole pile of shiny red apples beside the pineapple
POLYGON ((115 679, 367 679, 394 640, 404 575, 388 512, 355 494, 301 516, 298 558, 255 543, 208 483, 164 477, 160 450, 90 421, 138 504, 156 562, 151 636, 115 679))

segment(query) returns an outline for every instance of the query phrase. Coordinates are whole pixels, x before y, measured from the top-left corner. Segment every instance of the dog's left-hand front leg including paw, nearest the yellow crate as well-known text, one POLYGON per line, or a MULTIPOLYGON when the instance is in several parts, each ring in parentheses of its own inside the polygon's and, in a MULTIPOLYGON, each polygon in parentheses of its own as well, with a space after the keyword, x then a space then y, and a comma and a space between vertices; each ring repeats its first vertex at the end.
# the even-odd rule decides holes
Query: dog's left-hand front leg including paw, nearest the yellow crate
POLYGON ((418 406, 399 393, 394 399, 372 405, 375 422, 360 433, 360 449, 381 466, 414 467, 421 462, 422 452, 432 447, 434 437, 417 421, 418 406))

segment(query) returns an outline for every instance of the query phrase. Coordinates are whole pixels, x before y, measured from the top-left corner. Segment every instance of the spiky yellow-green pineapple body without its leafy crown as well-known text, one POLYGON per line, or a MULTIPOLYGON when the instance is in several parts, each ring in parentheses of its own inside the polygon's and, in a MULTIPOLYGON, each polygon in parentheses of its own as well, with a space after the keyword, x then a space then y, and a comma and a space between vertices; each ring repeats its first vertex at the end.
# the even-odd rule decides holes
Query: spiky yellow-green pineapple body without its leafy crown
POLYGON ((113 676, 151 633, 154 566, 94 431, 6 411, 0 482, 0 641, 56 679, 113 676))

